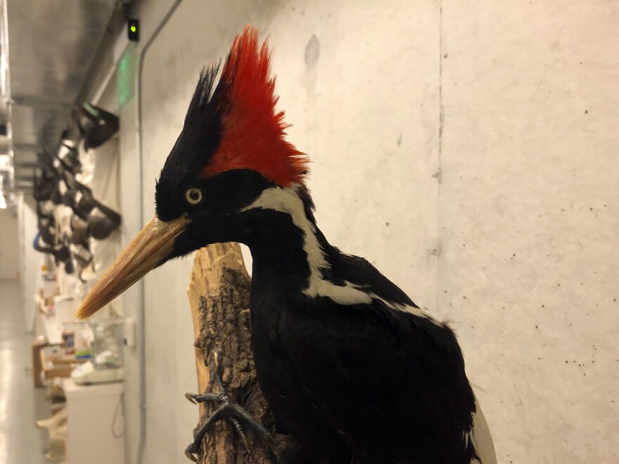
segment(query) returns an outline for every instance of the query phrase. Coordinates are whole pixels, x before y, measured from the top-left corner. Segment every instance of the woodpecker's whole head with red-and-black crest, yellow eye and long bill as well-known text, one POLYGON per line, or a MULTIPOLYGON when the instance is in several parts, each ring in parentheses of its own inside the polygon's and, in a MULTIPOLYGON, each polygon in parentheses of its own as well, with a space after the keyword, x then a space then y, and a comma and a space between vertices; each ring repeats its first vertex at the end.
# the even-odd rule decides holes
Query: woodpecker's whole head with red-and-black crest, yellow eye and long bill
POLYGON ((269 68, 266 42, 259 46, 257 30, 245 27, 217 86, 219 66, 203 70, 155 188, 157 216, 96 283, 79 318, 168 259, 209 243, 245 241, 259 214, 243 208, 269 188, 302 184, 308 160, 285 140, 269 68))

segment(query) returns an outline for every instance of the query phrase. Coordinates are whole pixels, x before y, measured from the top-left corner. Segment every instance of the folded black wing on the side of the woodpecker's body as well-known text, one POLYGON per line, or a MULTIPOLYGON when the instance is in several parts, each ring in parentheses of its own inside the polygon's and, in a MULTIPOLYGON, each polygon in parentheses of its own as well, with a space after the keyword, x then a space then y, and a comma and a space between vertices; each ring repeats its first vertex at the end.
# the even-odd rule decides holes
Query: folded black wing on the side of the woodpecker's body
POLYGON ((464 431, 475 399, 449 328, 427 321, 430 333, 420 318, 376 299, 350 306, 307 299, 289 314, 279 335, 307 400, 358 458, 471 462, 464 431))

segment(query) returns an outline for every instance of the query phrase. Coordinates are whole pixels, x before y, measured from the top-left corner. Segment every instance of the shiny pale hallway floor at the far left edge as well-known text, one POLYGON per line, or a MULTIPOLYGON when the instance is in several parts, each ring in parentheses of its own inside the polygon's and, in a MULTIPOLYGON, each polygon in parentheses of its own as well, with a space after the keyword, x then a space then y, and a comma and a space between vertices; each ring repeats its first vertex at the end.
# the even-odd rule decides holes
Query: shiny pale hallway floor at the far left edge
POLYGON ((0 281, 0 464, 48 464, 47 432, 34 421, 51 415, 46 389, 32 384, 30 343, 17 281, 0 281))

